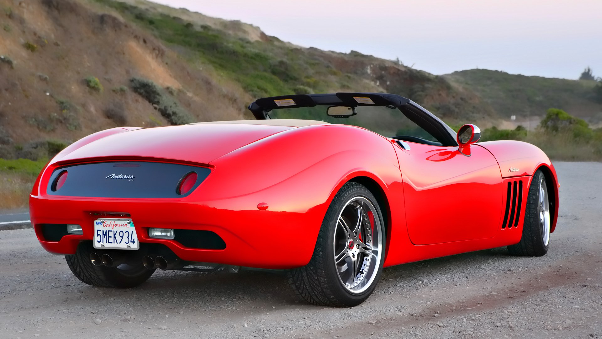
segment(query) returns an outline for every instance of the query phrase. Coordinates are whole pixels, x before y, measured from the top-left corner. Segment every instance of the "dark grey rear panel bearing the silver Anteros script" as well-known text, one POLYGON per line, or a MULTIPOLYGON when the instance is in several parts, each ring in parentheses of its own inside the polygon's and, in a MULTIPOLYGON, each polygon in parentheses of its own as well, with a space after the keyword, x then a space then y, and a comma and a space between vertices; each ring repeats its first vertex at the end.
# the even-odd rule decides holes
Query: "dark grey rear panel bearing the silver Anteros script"
POLYGON ((163 162, 99 162, 57 168, 47 193, 69 197, 181 198, 194 191, 211 170, 205 167, 163 162), (67 170, 64 185, 54 190, 59 174, 67 170), (198 179, 187 194, 176 193, 178 183, 190 172, 198 179))

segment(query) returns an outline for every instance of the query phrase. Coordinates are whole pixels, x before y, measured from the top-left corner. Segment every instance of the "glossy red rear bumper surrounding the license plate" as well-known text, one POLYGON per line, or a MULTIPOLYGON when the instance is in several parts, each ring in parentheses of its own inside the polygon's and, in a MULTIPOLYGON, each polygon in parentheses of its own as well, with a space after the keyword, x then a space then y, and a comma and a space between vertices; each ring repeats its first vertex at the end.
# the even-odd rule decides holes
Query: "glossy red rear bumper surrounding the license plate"
POLYGON ((260 211, 257 202, 246 197, 199 203, 184 199, 31 196, 29 206, 36 236, 51 253, 74 254, 81 241, 93 239, 94 221, 110 212, 114 218, 123 214, 122 218, 134 221, 141 244, 164 244, 182 260, 257 268, 306 265, 323 218, 317 211, 320 209, 260 211), (60 239, 53 239, 58 241, 49 241, 43 232, 46 224, 78 224, 82 226, 83 235, 62 235, 60 239), (178 230, 211 231, 223 239, 226 246, 219 250, 190 248, 175 239, 150 238, 148 229, 151 227, 176 229, 176 234, 178 230))

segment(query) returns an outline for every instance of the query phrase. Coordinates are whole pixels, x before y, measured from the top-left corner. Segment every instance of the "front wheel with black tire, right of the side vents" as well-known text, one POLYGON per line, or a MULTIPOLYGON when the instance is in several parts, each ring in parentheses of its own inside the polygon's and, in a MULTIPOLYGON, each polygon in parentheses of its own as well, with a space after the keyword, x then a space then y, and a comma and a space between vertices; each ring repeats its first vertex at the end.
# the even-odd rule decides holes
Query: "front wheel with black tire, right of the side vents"
POLYGON ((548 247, 550 245, 550 222, 551 218, 553 217, 550 215, 550 213, 553 213, 550 212, 550 210, 550 201, 548 200, 548 190, 545 176, 541 170, 538 170, 533 175, 533 180, 529 185, 529 195, 527 196, 527 204, 525 209, 523 235, 518 244, 508 246, 508 252, 510 255, 542 256, 548 252, 548 247), (544 189, 543 197, 542 188, 544 189), (545 200, 545 203, 541 203, 540 200, 545 200), (545 224, 545 210, 542 214, 542 208, 547 208, 547 225, 545 224), (544 215, 543 221, 542 215, 544 215), (547 227, 547 235, 545 227, 547 227))

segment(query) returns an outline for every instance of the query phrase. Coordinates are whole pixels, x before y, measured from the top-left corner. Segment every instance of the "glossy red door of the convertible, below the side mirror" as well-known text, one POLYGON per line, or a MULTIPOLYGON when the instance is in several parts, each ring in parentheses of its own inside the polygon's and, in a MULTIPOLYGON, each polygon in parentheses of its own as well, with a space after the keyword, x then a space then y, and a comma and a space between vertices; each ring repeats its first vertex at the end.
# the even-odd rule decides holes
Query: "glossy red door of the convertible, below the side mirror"
POLYGON ((500 224, 504 189, 494 156, 479 145, 396 148, 403 176, 406 222, 417 245, 491 238, 500 224))

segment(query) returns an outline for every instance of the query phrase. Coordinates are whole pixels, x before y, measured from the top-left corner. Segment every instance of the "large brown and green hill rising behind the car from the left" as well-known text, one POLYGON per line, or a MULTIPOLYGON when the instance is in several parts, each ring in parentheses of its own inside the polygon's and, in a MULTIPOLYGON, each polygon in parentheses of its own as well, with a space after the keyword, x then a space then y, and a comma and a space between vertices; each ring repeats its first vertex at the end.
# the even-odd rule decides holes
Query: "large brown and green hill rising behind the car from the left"
POLYGON ((253 98, 287 93, 393 92, 448 119, 494 115, 474 92, 401 63, 131 3, 0 0, 0 157, 37 159, 56 148, 49 141, 116 125, 249 118, 253 98), (132 78, 153 81, 162 97, 141 97, 132 78))

